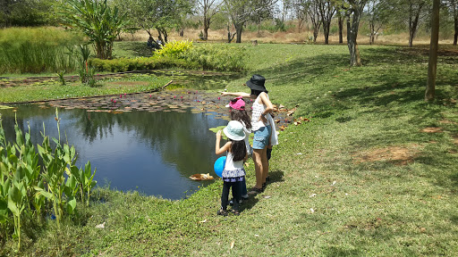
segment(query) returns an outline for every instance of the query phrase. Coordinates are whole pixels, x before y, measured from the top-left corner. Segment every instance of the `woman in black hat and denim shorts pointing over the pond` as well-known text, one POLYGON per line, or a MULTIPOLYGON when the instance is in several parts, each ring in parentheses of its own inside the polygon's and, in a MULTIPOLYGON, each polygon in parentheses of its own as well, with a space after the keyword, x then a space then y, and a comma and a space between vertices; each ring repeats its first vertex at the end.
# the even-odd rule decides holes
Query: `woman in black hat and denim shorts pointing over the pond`
POLYGON ((259 194, 266 187, 268 172, 267 145, 269 144, 271 133, 271 127, 267 122, 267 114, 274 110, 274 105, 268 99, 265 83, 266 79, 264 77, 255 74, 246 82, 246 86, 251 89, 250 94, 245 92, 221 92, 221 95, 235 95, 256 99, 252 105, 253 112, 251 114, 251 131, 254 133, 253 161, 255 164, 256 185, 251 188, 249 195, 259 194))

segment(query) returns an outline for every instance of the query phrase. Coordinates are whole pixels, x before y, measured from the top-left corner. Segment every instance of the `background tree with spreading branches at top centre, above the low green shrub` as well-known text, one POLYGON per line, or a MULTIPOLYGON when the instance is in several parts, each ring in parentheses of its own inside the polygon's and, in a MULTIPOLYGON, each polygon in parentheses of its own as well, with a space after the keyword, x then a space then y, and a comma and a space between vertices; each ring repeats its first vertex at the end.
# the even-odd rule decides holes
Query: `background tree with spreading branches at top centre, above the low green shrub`
MULTIPOLYGON (((242 43, 243 25, 250 17, 259 15, 261 10, 272 8, 277 0, 224 0, 225 12, 228 13, 230 20, 233 22, 237 39, 235 43, 242 43)), ((229 26, 228 26, 229 27, 229 26)), ((228 28, 228 33, 230 33, 228 28)), ((233 36, 234 36, 233 35, 233 36)), ((229 39, 233 37, 228 35, 229 39)), ((229 40, 229 42, 230 42, 229 40)))

